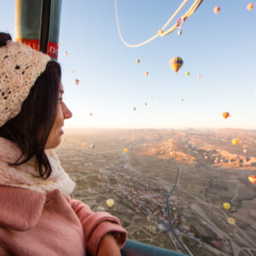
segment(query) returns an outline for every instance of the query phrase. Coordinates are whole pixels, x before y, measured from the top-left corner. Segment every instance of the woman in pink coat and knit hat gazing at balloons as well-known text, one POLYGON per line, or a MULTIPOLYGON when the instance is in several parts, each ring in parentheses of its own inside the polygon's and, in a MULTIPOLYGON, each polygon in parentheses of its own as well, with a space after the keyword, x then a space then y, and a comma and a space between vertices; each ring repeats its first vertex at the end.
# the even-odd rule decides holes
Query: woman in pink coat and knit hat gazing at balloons
POLYGON ((61 67, 0 33, 0 255, 120 255, 126 231, 72 200, 53 148, 64 119, 61 67))

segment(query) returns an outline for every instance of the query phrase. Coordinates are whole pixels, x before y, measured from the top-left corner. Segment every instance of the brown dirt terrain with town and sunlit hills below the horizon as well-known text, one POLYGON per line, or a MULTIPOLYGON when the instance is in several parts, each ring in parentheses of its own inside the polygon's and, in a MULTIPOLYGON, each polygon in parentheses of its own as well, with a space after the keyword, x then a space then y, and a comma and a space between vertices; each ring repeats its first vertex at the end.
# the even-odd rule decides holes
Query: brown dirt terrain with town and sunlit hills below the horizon
POLYGON ((182 252, 165 201, 180 169, 169 206, 189 251, 256 255, 256 184, 247 179, 256 175, 256 131, 69 128, 56 152, 77 184, 73 198, 117 216, 130 239, 182 252))

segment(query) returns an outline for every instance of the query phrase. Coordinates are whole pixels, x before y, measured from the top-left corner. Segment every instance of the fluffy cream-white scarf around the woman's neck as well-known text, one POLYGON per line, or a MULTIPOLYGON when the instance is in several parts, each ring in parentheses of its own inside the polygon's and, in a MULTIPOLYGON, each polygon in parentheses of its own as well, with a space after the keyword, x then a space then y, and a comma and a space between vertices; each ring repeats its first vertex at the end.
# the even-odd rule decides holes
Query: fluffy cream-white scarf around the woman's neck
POLYGON ((37 177, 39 174, 36 172, 34 158, 20 166, 9 166, 9 163, 15 163, 20 157, 20 148, 15 143, 0 137, 0 184, 32 189, 41 193, 60 189, 62 195, 70 195, 75 183, 61 167, 55 150, 48 149, 44 152, 53 171, 47 179, 37 177))

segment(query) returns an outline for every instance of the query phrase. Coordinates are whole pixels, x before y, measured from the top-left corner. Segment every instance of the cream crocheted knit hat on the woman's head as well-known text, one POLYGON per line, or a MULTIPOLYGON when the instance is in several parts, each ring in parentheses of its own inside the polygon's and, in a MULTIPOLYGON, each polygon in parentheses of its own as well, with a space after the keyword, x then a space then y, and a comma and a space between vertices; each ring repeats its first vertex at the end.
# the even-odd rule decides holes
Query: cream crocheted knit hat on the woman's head
POLYGON ((18 42, 8 41, 0 47, 0 127, 20 113, 49 60, 48 55, 18 42))

